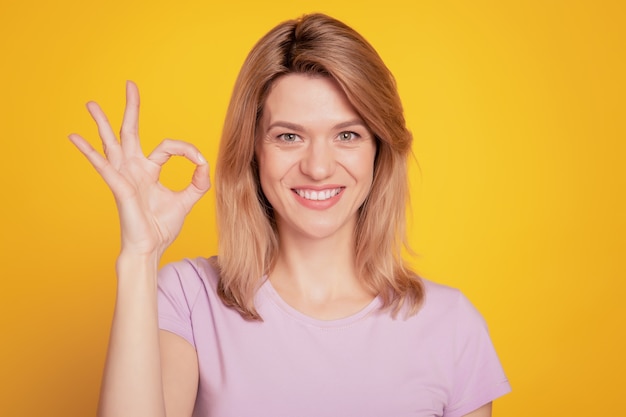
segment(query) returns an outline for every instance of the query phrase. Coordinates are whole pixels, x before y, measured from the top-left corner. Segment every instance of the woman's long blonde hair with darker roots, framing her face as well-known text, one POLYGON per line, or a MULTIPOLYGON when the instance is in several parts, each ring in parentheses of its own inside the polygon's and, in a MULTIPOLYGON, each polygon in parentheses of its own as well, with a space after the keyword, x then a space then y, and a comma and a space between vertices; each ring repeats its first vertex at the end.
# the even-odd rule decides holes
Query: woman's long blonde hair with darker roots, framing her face
POLYGON ((246 319, 260 320, 254 296, 278 251, 272 208, 258 179, 257 126, 272 82, 289 73, 332 77, 377 141, 374 180, 355 230, 356 267, 364 285, 397 314, 417 312, 420 279, 404 265, 407 157, 412 135, 395 80, 374 48, 342 22, 323 14, 279 24, 245 60, 226 114, 215 188, 222 301, 246 319))

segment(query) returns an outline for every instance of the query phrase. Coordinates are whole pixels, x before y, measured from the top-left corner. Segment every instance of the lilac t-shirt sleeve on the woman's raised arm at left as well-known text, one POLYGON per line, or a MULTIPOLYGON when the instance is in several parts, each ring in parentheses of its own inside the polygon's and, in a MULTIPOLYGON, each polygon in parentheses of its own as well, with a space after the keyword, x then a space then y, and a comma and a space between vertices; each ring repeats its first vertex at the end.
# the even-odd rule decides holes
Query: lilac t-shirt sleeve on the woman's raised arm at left
POLYGON ((195 348, 191 314, 198 288, 192 284, 198 278, 190 274, 197 272, 188 261, 163 267, 158 274, 157 301, 159 328, 181 336, 195 348))

